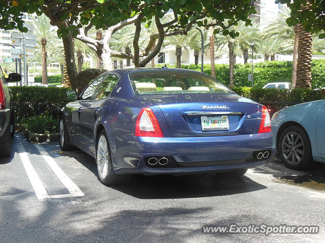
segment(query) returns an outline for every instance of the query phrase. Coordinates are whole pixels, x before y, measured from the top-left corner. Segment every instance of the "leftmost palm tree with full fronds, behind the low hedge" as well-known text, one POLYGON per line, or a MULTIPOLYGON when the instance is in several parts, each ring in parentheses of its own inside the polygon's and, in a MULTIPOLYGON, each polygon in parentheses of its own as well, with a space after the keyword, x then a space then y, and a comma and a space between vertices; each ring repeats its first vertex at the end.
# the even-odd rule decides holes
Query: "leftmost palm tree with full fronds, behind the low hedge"
POLYGON ((37 44, 42 46, 42 84, 48 84, 46 45, 55 38, 56 31, 44 14, 34 21, 34 28, 37 44))

